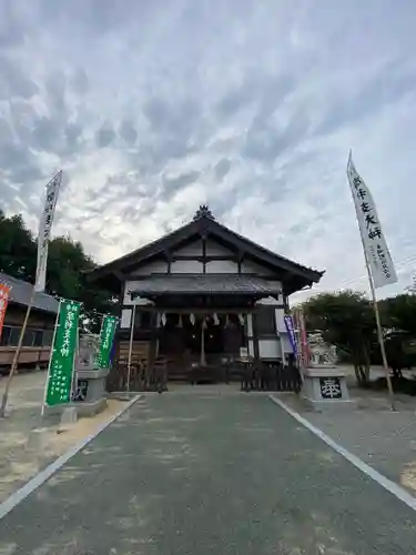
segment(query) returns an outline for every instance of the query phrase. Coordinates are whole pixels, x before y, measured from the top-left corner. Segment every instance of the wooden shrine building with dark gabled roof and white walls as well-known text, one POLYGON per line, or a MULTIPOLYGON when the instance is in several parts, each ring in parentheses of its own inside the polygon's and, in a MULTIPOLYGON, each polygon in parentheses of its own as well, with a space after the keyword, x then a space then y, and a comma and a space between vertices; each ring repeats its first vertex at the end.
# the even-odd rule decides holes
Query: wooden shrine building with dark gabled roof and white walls
POLYGON ((120 297, 119 365, 129 351, 133 366, 163 357, 172 380, 242 352, 287 364, 287 297, 322 275, 227 229, 202 205, 190 223, 89 279, 120 297))

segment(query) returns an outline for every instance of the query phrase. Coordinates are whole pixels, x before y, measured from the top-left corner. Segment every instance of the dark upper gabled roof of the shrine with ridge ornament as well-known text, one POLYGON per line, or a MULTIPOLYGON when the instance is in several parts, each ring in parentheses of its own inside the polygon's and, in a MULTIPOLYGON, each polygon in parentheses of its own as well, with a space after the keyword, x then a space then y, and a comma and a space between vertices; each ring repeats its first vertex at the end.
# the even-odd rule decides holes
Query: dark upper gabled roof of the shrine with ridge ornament
POLYGON ((284 256, 275 254, 268 249, 265 249, 250 239, 240 235, 235 231, 230 230, 213 218, 207 206, 202 205, 190 223, 182 225, 177 230, 168 233, 161 239, 141 246, 124 256, 92 270, 89 272, 89 281, 101 281, 111 276, 111 274, 116 274, 118 272, 129 272, 129 270, 133 266, 136 266, 158 254, 172 251, 180 243, 199 234, 202 236, 210 235, 214 240, 217 239, 223 243, 227 243, 242 254, 253 258, 260 263, 272 268, 276 271, 276 273, 284 272, 287 280, 288 276, 294 280, 293 286, 288 287, 291 293, 298 291, 306 285, 317 283, 324 274, 324 272, 318 272, 311 268, 303 266, 284 256))

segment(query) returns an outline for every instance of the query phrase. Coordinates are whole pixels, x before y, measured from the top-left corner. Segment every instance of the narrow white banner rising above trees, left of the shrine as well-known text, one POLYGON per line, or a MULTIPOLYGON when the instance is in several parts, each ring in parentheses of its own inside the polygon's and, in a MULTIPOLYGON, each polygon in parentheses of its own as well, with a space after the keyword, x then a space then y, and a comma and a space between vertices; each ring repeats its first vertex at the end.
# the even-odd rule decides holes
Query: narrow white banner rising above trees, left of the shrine
POLYGON ((43 213, 39 222, 38 236, 38 266, 34 291, 44 291, 47 281, 48 245, 51 236, 51 229, 57 206, 59 189, 61 186, 62 171, 59 171, 47 185, 47 196, 44 200, 43 213))

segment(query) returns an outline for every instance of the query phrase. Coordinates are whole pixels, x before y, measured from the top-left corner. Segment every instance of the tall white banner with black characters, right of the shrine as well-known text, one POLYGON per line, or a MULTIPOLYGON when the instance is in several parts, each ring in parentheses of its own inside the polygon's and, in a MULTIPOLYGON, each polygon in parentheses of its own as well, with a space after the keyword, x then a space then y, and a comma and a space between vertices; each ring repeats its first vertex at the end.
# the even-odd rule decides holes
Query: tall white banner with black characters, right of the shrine
POLYGON ((373 196, 355 169, 349 152, 347 175, 374 287, 397 282, 396 271, 384 238, 373 196))

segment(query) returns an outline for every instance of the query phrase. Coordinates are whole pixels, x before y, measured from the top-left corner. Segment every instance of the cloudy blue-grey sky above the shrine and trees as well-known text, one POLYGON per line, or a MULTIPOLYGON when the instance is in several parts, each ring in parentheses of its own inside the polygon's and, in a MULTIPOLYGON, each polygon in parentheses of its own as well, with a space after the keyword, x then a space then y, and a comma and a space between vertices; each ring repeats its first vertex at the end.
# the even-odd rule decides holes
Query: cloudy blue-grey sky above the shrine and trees
POLYGON ((416 270, 414 0, 0 0, 0 206, 98 262, 207 202, 232 229, 366 289, 345 165, 416 270))

